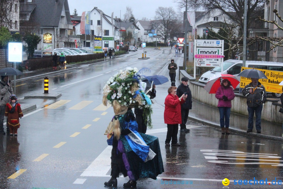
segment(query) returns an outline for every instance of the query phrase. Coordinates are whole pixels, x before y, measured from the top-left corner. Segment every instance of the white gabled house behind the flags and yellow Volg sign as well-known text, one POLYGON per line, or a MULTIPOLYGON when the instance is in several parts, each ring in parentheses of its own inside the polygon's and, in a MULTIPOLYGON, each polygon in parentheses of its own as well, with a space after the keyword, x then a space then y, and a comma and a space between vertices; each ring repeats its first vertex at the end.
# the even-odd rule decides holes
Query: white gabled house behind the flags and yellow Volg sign
POLYGON ((94 7, 90 12, 90 30, 91 35, 85 35, 80 33, 81 23, 75 25, 75 34, 80 36, 80 40, 83 42, 83 47, 86 50, 92 50, 94 45, 94 37, 102 37, 102 48, 104 47, 116 47, 119 46, 120 37, 119 37, 119 27, 116 24, 116 20, 113 18, 113 27, 112 27, 112 18, 104 14, 104 12, 98 7, 94 7))

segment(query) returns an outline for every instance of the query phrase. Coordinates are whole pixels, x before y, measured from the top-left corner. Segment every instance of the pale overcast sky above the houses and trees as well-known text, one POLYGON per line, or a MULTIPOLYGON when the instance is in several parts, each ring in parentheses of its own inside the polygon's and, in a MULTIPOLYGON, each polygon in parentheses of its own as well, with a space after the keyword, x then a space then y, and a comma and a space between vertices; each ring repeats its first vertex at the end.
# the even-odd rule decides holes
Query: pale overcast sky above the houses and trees
POLYGON ((126 7, 131 7, 135 19, 141 20, 143 17, 153 20, 155 16, 155 10, 158 7, 173 7, 175 12, 177 12, 177 3, 173 3, 173 0, 117 0, 117 1, 93 1, 93 0, 68 0, 70 14, 72 15, 74 9, 77 9, 78 16, 82 15, 83 11, 90 11, 93 7, 97 7, 102 10, 104 14, 111 16, 111 13, 114 12, 114 18, 120 17, 124 18, 126 12, 126 7), (153 18, 151 18, 153 17, 153 18))

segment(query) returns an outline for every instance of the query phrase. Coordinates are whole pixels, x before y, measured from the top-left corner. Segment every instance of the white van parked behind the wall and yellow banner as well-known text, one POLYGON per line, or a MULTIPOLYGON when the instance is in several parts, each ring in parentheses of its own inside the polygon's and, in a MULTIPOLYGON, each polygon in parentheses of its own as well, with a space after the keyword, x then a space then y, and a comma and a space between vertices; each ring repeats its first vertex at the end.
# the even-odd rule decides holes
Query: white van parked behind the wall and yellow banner
MULTIPOLYGON (((241 72, 241 67, 243 65, 242 60, 226 60, 223 62, 223 74, 231 74, 234 75, 238 80, 240 77, 238 74, 241 72)), ((250 68, 258 68, 258 69, 267 69, 267 70, 275 70, 275 71, 283 71, 283 63, 282 62, 266 62, 266 61, 246 61, 246 67, 250 68)), ((215 67, 203 75, 201 75, 198 80, 200 83, 206 84, 211 77, 221 73, 221 67, 215 67)), ((239 85, 236 89, 239 88, 239 85)), ((272 93, 273 96, 279 97, 281 93, 272 93)))

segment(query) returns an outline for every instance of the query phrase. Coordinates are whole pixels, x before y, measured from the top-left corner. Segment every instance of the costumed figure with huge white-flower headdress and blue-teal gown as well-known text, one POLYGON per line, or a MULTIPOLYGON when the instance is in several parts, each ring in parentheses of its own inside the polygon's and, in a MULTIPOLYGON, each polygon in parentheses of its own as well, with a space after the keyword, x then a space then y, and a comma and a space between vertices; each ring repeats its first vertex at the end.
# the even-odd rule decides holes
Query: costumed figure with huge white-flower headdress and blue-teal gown
POLYGON ((152 178, 164 172, 158 137, 138 133, 132 108, 144 109, 146 121, 151 125, 151 100, 140 89, 137 68, 120 70, 103 88, 103 104, 111 104, 115 115, 105 135, 112 145, 111 179, 106 186, 117 186, 117 177, 123 174, 129 181, 124 187, 135 187, 139 178, 152 178))

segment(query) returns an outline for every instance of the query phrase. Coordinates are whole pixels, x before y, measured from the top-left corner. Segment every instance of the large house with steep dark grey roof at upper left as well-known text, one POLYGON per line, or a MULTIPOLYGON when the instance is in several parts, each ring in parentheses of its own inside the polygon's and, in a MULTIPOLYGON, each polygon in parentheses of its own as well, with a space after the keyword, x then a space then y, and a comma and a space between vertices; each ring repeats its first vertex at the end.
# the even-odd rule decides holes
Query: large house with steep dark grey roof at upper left
MULTIPOLYGON (((74 47, 70 10, 67 0, 22 0, 20 1, 20 30, 32 31, 43 37, 44 33, 52 34, 52 48, 74 47)), ((37 50, 45 50, 43 40, 37 50)))

